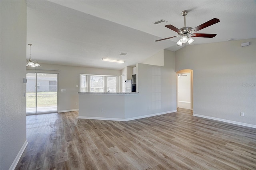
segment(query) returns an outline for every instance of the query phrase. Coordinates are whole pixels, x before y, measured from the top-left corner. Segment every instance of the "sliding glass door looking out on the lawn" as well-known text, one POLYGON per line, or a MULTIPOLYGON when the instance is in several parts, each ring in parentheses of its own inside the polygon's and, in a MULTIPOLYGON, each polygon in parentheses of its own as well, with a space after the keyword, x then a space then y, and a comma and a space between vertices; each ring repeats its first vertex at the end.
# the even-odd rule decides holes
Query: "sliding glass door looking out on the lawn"
POLYGON ((58 111, 58 74, 27 73, 27 114, 58 111))

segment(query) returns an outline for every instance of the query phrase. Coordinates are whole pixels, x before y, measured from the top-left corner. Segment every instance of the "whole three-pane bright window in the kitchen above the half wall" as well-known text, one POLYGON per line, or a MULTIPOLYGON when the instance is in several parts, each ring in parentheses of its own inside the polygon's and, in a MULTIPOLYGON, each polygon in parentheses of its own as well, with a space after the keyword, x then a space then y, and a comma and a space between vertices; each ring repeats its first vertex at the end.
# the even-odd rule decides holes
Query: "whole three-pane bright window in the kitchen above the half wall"
POLYGON ((80 74, 80 92, 112 92, 119 91, 119 76, 80 74))

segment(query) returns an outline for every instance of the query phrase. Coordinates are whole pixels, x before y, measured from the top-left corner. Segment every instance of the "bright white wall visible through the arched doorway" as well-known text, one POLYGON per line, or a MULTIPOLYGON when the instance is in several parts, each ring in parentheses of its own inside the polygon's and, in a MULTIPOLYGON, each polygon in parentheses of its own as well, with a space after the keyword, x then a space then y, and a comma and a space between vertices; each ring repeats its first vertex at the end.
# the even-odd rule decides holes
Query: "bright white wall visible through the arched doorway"
POLYGON ((178 78, 178 101, 190 103, 190 73, 178 78))

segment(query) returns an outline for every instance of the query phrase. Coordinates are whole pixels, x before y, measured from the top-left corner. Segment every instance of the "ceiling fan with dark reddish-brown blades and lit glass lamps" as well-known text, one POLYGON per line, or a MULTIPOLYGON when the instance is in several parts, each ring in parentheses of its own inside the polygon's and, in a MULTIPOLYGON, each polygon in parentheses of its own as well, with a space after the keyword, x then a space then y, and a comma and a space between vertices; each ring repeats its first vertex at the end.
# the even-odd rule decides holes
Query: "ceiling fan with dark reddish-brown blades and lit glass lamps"
MULTIPOLYGON (((199 30, 202 30, 203 28, 206 28, 208 26, 211 26, 213 24, 220 22, 220 20, 218 18, 213 18, 212 20, 209 20, 209 21, 205 22, 204 24, 201 24, 200 26, 192 28, 192 27, 186 26, 186 15, 188 14, 188 11, 187 10, 182 11, 181 14, 182 14, 182 16, 184 16, 184 27, 183 28, 178 29, 178 28, 174 27, 173 25, 165 26, 165 27, 177 32, 179 34, 179 36, 182 36, 182 38, 177 42, 178 45, 182 45, 183 43, 186 43, 186 42, 188 42, 188 44, 192 43, 194 40, 191 37, 213 38, 217 35, 217 34, 202 34, 202 33, 194 33, 194 32, 197 32, 199 30)), ((174 37, 179 37, 179 36, 174 36, 174 37)), ((155 42, 167 40, 167 39, 174 38, 174 37, 168 37, 168 38, 156 40, 155 42)))

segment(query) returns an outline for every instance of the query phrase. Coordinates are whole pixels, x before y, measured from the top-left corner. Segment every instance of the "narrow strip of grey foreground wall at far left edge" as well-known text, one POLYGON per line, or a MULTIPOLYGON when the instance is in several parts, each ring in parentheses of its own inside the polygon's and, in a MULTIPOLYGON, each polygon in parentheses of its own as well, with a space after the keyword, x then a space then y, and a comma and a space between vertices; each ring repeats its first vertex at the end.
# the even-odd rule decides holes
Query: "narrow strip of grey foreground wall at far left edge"
POLYGON ((26 143, 26 2, 0 4, 0 169, 8 170, 26 143))

